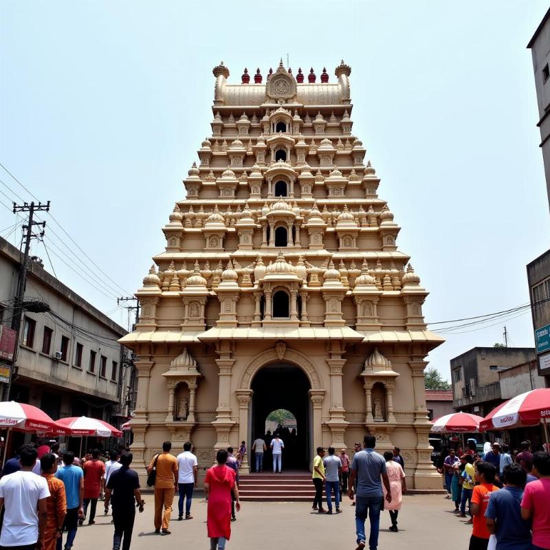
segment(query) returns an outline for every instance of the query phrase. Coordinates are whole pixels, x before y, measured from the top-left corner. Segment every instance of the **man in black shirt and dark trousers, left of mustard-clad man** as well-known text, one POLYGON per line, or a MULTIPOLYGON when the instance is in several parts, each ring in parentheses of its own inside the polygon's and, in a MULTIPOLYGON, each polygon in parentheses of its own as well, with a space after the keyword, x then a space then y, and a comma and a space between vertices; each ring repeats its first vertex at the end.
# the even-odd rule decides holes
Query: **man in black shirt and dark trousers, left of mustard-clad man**
POLYGON ((113 523, 115 534, 113 535, 113 550, 129 550, 132 541, 133 522, 135 520, 135 505, 143 511, 143 500, 140 493, 140 479, 137 473, 130 469, 132 453, 123 452, 120 456, 120 468, 111 472, 109 481, 105 487, 105 509, 109 509, 109 500, 113 505, 113 523))

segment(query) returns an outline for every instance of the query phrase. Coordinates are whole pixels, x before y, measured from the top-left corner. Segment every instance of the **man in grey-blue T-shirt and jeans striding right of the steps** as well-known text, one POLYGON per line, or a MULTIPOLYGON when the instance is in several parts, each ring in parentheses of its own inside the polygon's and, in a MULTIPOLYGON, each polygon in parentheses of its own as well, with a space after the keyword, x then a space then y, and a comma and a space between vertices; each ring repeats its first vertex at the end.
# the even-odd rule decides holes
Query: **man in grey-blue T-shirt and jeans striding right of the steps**
POLYGON ((378 531, 380 530, 380 509, 382 508, 383 492, 380 476, 386 487, 386 500, 391 503, 391 488, 386 461, 384 456, 374 451, 376 438, 366 435, 363 439, 364 450, 356 452, 351 463, 349 476, 349 498, 353 498, 353 482, 358 479, 357 494, 355 496, 355 529, 357 531, 357 549, 365 547, 365 520, 369 516, 371 521, 371 535, 369 549, 377 550, 378 531))

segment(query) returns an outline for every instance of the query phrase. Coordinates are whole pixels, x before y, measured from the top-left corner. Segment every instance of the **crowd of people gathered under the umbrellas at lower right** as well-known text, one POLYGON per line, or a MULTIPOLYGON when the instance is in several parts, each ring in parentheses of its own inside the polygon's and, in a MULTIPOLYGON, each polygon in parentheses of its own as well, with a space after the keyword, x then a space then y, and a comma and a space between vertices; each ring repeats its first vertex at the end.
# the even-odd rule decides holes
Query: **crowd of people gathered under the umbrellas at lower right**
POLYGON ((485 442, 443 452, 438 470, 459 518, 472 525, 470 550, 550 549, 550 454, 485 442))

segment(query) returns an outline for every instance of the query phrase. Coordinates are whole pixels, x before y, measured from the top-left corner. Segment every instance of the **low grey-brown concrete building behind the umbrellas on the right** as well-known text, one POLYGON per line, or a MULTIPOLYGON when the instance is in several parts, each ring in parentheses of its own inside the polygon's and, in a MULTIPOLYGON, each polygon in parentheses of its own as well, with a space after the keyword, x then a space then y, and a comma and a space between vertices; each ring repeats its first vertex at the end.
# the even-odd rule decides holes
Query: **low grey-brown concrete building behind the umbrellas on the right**
POLYGON ((533 348, 480 347, 452 359, 450 367, 454 409, 481 417, 487 415, 503 399, 508 399, 503 397, 500 371, 535 358, 533 348))

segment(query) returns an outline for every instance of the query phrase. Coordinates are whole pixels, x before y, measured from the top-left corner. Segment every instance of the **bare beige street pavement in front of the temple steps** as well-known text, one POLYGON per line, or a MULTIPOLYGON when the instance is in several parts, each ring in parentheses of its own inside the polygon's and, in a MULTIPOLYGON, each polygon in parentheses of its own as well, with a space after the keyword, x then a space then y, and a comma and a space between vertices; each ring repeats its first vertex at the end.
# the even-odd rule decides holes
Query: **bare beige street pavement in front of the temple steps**
MULTIPOLYGON (((144 495, 145 511, 136 514, 131 549, 133 550, 209 550, 206 537, 206 502, 198 497, 193 500, 192 520, 177 521, 177 498, 174 499, 171 535, 159 536, 153 527, 153 495, 144 495)), ((453 504, 443 495, 414 495, 403 498, 399 511, 399 533, 388 531, 391 525, 388 511, 380 520, 381 550, 410 550, 419 547, 434 548, 448 545, 456 549, 467 548, 472 532, 471 525, 456 518, 453 504)), ((355 549, 355 508, 345 497, 343 513, 327 516, 311 510, 303 503, 242 503, 237 520, 231 524, 232 536, 227 550, 294 550, 355 549)), ((113 544, 111 515, 103 515, 102 503, 98 503, 96 525, 78 528, 74 550, 109 550, 113 544)), ((369 520, 366 521, 369 533, 369 520)), ((66 535, 65 535, 66 536, 66 535)), ((65 538, 64 536, 64 538, 65 538)))

